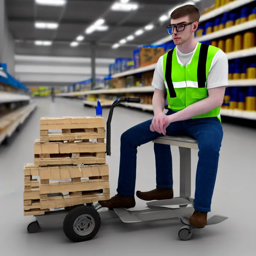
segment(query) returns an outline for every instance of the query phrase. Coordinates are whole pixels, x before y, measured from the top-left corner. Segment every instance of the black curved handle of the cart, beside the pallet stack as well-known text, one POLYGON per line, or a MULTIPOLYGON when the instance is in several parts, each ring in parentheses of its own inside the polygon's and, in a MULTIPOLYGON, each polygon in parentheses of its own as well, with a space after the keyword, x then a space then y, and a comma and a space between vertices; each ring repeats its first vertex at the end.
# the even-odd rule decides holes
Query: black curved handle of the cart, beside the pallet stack
POLYGON ((140 98, 134 98, 134 97, 120 97, 116 99, 113 104, 111 105, 111 108, 109 110, 108 114, 108 120, 107 120, 107 156, 111 155, 111 120, 113 116, 114 108, 120 104, 120 103, 140 103, 140 98))

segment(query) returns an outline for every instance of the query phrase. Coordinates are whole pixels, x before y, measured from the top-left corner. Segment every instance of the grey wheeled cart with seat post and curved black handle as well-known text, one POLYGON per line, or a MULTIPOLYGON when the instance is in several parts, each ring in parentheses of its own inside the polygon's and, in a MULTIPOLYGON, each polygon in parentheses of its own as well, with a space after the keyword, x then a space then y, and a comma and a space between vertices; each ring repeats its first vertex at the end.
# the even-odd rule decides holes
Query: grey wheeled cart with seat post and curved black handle
MULTIPOLYGON (((111 155, 111 120, 113 109, 120 103, 140 103, 140 98, 120 97, 111 106, 107 120, 107 155, 111 155)), ((102 108, 98 103, 96 115, 102 115, 102 108)), ((168 200, 151 201, 141 211, 132 211, 125 208, 105 209, 99 203, 58 209, 46 212, 45 215, 35 216, 36 221, 28 225, 28 232, 39 230, 40 223, 49 215, 63 218, 65 235, 74 242, 87 241, 95 237, 100 229, 101 220, 120 218, 124 223, 164 220, 179 218, 184 224, 178 232, 181 240, 191 239, 194 228, 189 224, 189 217, 193 214, 194 199, 191 197, 191 149, 198 149, 197 141, 190 137, 163 136, 153 143, 168 144, 179 147, 180 152, 180 196, 168 200)), ((223 222, 228 217, 214 215, 207 220, 207 225, 223 222)))

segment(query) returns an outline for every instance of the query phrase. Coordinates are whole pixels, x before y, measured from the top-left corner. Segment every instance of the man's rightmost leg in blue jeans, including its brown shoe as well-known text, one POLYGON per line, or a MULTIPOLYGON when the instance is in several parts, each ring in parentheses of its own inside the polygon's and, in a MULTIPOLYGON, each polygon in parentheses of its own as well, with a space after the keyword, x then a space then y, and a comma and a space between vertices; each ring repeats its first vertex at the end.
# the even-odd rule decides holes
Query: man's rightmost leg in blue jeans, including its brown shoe
POLYGON ((186 128, 188 133, 198 141, 199 147, 194 203, 195 213, 190 221, 195 227, 204 227, 206 225, 207 212, 211 211, 223 129, 217 118, 188 120, 186 128))

